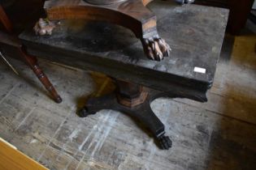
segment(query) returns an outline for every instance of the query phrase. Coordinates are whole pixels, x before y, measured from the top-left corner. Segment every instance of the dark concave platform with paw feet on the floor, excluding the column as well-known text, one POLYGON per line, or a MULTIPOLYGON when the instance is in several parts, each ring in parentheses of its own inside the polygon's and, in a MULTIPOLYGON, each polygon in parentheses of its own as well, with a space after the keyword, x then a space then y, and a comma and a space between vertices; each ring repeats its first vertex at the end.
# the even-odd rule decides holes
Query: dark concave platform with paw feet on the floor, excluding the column
POLYGON ((106 96, 91 97, 86 102, 85 107, 77 112, 77 115, 80 117, 88 117, 91 114, 98 113, 98 111, 102 109, 114 109, 125 113, 140 121, 153 134, 158 147, 167 150, 171 147, 171 139, 164 136, 164 125, 150 108, 151 101, 158 98, 160 93, 160 91, 148 90, 148 96, 145 102, 132 108, 119 104, 116 92, 106 96))

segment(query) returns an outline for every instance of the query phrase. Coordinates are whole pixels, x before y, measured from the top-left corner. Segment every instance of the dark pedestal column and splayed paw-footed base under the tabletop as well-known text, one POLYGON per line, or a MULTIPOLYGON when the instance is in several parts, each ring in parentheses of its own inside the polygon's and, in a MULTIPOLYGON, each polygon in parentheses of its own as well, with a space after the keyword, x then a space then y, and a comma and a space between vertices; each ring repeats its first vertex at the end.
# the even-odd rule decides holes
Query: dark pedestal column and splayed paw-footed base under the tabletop
POLYGON ((172 145, 171 139, 165 136, 162 121, 150 108, 150 103, 158 98, 160 91, 148 90, 140 85, 115 80, 116 90, 109 95, 94 97, 90 96, 85 107, 77 114, 80 117, 88 117, 102 109, 114 109, 126 113, 129 116, 141 121, 153 134, 158 147, 169 149, 172 145))

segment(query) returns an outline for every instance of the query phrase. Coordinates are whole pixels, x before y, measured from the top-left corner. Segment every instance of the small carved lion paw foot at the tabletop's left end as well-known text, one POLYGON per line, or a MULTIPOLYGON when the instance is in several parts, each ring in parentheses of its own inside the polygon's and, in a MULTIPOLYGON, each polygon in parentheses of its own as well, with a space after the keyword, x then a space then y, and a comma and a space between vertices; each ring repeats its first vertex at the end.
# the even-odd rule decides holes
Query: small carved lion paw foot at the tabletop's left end
POLYGON ((51 35, 55 28, 55 24, 51 23, 48 19, 39 19, 33 30, 40 36, 51 35))

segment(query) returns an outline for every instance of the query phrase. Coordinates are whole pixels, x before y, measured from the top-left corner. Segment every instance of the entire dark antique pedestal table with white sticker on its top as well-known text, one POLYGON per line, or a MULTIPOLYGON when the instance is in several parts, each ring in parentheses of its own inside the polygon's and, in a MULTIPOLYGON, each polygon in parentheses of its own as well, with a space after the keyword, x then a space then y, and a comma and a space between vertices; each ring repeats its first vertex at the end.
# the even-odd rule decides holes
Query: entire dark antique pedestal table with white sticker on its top
POLYGON ((31 28, 20 39, 28 54, 115 79, 116 91, 92 96, 78 112, 81 117, 103 108, 128 113, 150 129, 159 147, 168 149, 171 140, 164 136, 164 125, 154 115, 150 102, 161 96, 207 101, 228 11, 166 1, 153 2, 149 7, 158 17, 160 36, 172 49, 171 56, 161 62, 148 60, 132 32, 111 23, 62 21, 51 36, 36 36, 31 28))

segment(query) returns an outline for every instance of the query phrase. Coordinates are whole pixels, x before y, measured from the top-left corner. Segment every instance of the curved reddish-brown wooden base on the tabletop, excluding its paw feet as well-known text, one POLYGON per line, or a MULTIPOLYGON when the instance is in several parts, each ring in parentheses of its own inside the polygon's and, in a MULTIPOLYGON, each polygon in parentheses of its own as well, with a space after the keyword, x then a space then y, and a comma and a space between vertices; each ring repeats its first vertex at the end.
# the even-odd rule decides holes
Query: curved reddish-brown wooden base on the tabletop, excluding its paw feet
POLYGON ((46 2, 45 9, 47 17, 50 20, 102 20, 129 28, 137 38, 141 38, 148 30, 155 29, 156 27, 154 14, 144 8, 144 6, 141 6, 143 6, 141 2, 133 2, 133 4, 130 2, 128 5, 123 4, 123 6, 118 7, 113 5, 106 8, 105 6, 93 6, 83 2, 83 0, 51 0, 46 2), (137 12, 138 10, 140 11, 137 12), (129 14, 130 11, 134 11, 132 15, 129 14), (140 17, 140 19, 138 19, 138 17, 140 17))

